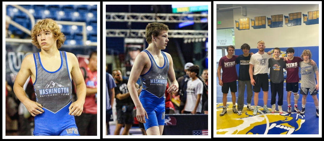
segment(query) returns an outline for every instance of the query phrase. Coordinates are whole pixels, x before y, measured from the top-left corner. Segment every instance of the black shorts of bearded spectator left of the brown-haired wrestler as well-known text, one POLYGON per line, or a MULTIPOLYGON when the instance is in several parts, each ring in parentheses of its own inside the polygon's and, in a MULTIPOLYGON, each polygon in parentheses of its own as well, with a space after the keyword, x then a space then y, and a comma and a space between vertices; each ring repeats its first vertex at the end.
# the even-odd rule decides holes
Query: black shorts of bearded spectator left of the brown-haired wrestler
POLYGON ((118 124, 133 124, 133 105, 124 105, 121 107, 116 107, 117 111, 117 123, 118 124))

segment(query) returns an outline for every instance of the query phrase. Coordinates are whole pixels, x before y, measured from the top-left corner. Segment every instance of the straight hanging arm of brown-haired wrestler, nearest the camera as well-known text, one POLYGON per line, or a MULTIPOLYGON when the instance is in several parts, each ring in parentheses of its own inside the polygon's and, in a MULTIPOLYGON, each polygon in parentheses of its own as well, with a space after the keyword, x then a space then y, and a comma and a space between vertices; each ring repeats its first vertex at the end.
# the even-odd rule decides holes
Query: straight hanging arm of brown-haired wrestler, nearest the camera
POLYGON ((147 64, 147 58, 145 56, 145 52, 141 52, 139 53, 134 61, 132 70, 131 70, 131 74, 129 76, 128 79, 128 83, 127 83, 127 88, 129 91, 129 94, 131 95, 131 98, 135 104, 136 107, 136 119, 141 122, 141 123, 146 123, 145 122, 145 116, 147 117, 146 111, 143 108, 142 103, 140 102, 140 99, 138 98, 138 93, 136 91, 136 87, 135 87, 135 83, 138 80, 141 72, 144 69, 145 64, 147 64))

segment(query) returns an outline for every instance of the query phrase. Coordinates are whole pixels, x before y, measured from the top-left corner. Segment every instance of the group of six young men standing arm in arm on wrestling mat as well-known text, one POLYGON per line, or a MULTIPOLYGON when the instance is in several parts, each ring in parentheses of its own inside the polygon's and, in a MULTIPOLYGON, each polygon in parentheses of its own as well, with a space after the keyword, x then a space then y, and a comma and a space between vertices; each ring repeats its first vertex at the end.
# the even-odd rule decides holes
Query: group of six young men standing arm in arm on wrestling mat
MULTIPOLYGON (((264 41, 259 41, 257 44, 258 52, 253 54, 249 53, 250 46, 248 44, 243 44, 241 49, 243 51, 242 55, 233 55, 234 47, 228 46, 226 48, 227 55, 219 60, 219 66, 217 71, 217 76, 219 80, 219 85, 222 86, 223 92, 223 111, 220 116, 223 116, 226 112, 227 103, 227 93, 230 89, 232 95, 233 107, 232 110, 235 114, 241 115, 244 106, 244 91, 245 85, 247 86, 247 109, 253 111, 253 115, 258 113, 258 101, 259 92, 262 88, 263 91, 263 110, 265 113, 274 113, 276 111, 276 94, 278 93, 278 110, 282 114, 283 105, 283 89, 284 89, 284 70, 287 70, 286 77, 286 91, 287 91, 287 113, 291 113, 291 102, 290 96, 291 92, 294 93, 294 111, 296 113, 304 114, 306 106, 306 97, 309 94, 314 100, 316 107, 316 115, 318 116, 318 67, 316 63, 311 59, 311 52, 305 49, 300 57, 295 57, 295 50, 293 48, 288 48, 286 50, 287 57, 280 57, 280 49, 273 49, 273 56, 271 53, 265 53, 265 43, 264 41), (237 77, 236 64, 239 64, 239 73, 237 77), (302 110, 299 111, 297 103, 299 99, 298 94, 298 67, 300 67, 301 74, 301 86, 300 93, 303 95, 302 98, 302 110), (268 101, 268 91, 269 91, 269 80, 268 72, 270 68, 270 89, 271 89, 271 111, 267 107, 268 101), (223 70, 222 78, 220 70, 223 70), (316 80, 314 73, 316 74, 316 80), (236 95, 237 86, 236 80, 238 79, 238 99, 236 108, 236 95), (252 89, 253 85, 253 89, 252 89), (254 91, 254 108, 251 106, 252 90, 254 91)), ((260 112, 260 111, 259 111, 260 112)))

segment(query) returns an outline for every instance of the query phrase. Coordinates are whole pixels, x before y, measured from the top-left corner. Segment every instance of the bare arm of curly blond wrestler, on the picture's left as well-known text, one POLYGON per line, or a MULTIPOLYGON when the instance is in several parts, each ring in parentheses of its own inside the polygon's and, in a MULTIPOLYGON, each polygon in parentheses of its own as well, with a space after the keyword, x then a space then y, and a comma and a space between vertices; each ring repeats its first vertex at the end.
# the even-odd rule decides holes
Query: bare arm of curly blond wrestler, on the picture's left
POLYGON ((14 92, 17 98, 21 103, 25 105, 28 112, 32 116, 36 116, 36 114, 42 114, 44 112, 43 106, 40 103, 34 102, 30 100, 24 91, 24 84, 28 77, 31 75, 30 67, 35 67, 34 57, 32 54, 27 55, 21 63, 20 70, 16 76, 16 80, 14 82, 14 92))

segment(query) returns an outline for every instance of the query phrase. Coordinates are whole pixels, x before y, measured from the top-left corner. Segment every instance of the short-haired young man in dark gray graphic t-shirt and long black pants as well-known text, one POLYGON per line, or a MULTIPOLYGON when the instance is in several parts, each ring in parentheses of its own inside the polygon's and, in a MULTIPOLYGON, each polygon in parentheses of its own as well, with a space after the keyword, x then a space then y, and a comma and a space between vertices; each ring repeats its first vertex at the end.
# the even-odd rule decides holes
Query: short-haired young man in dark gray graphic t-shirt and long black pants
POLYGON ((280 49, 273 49, 274 57, 269 59, 270 68, 270 88, 271 88, 271 113, 274 113, 276 109, 276 95, 278 92, 278 110, 282 114, 282 105, 284 100, 284 68, 286 68, 286 63, 283 59, 280 59, 280 49))

